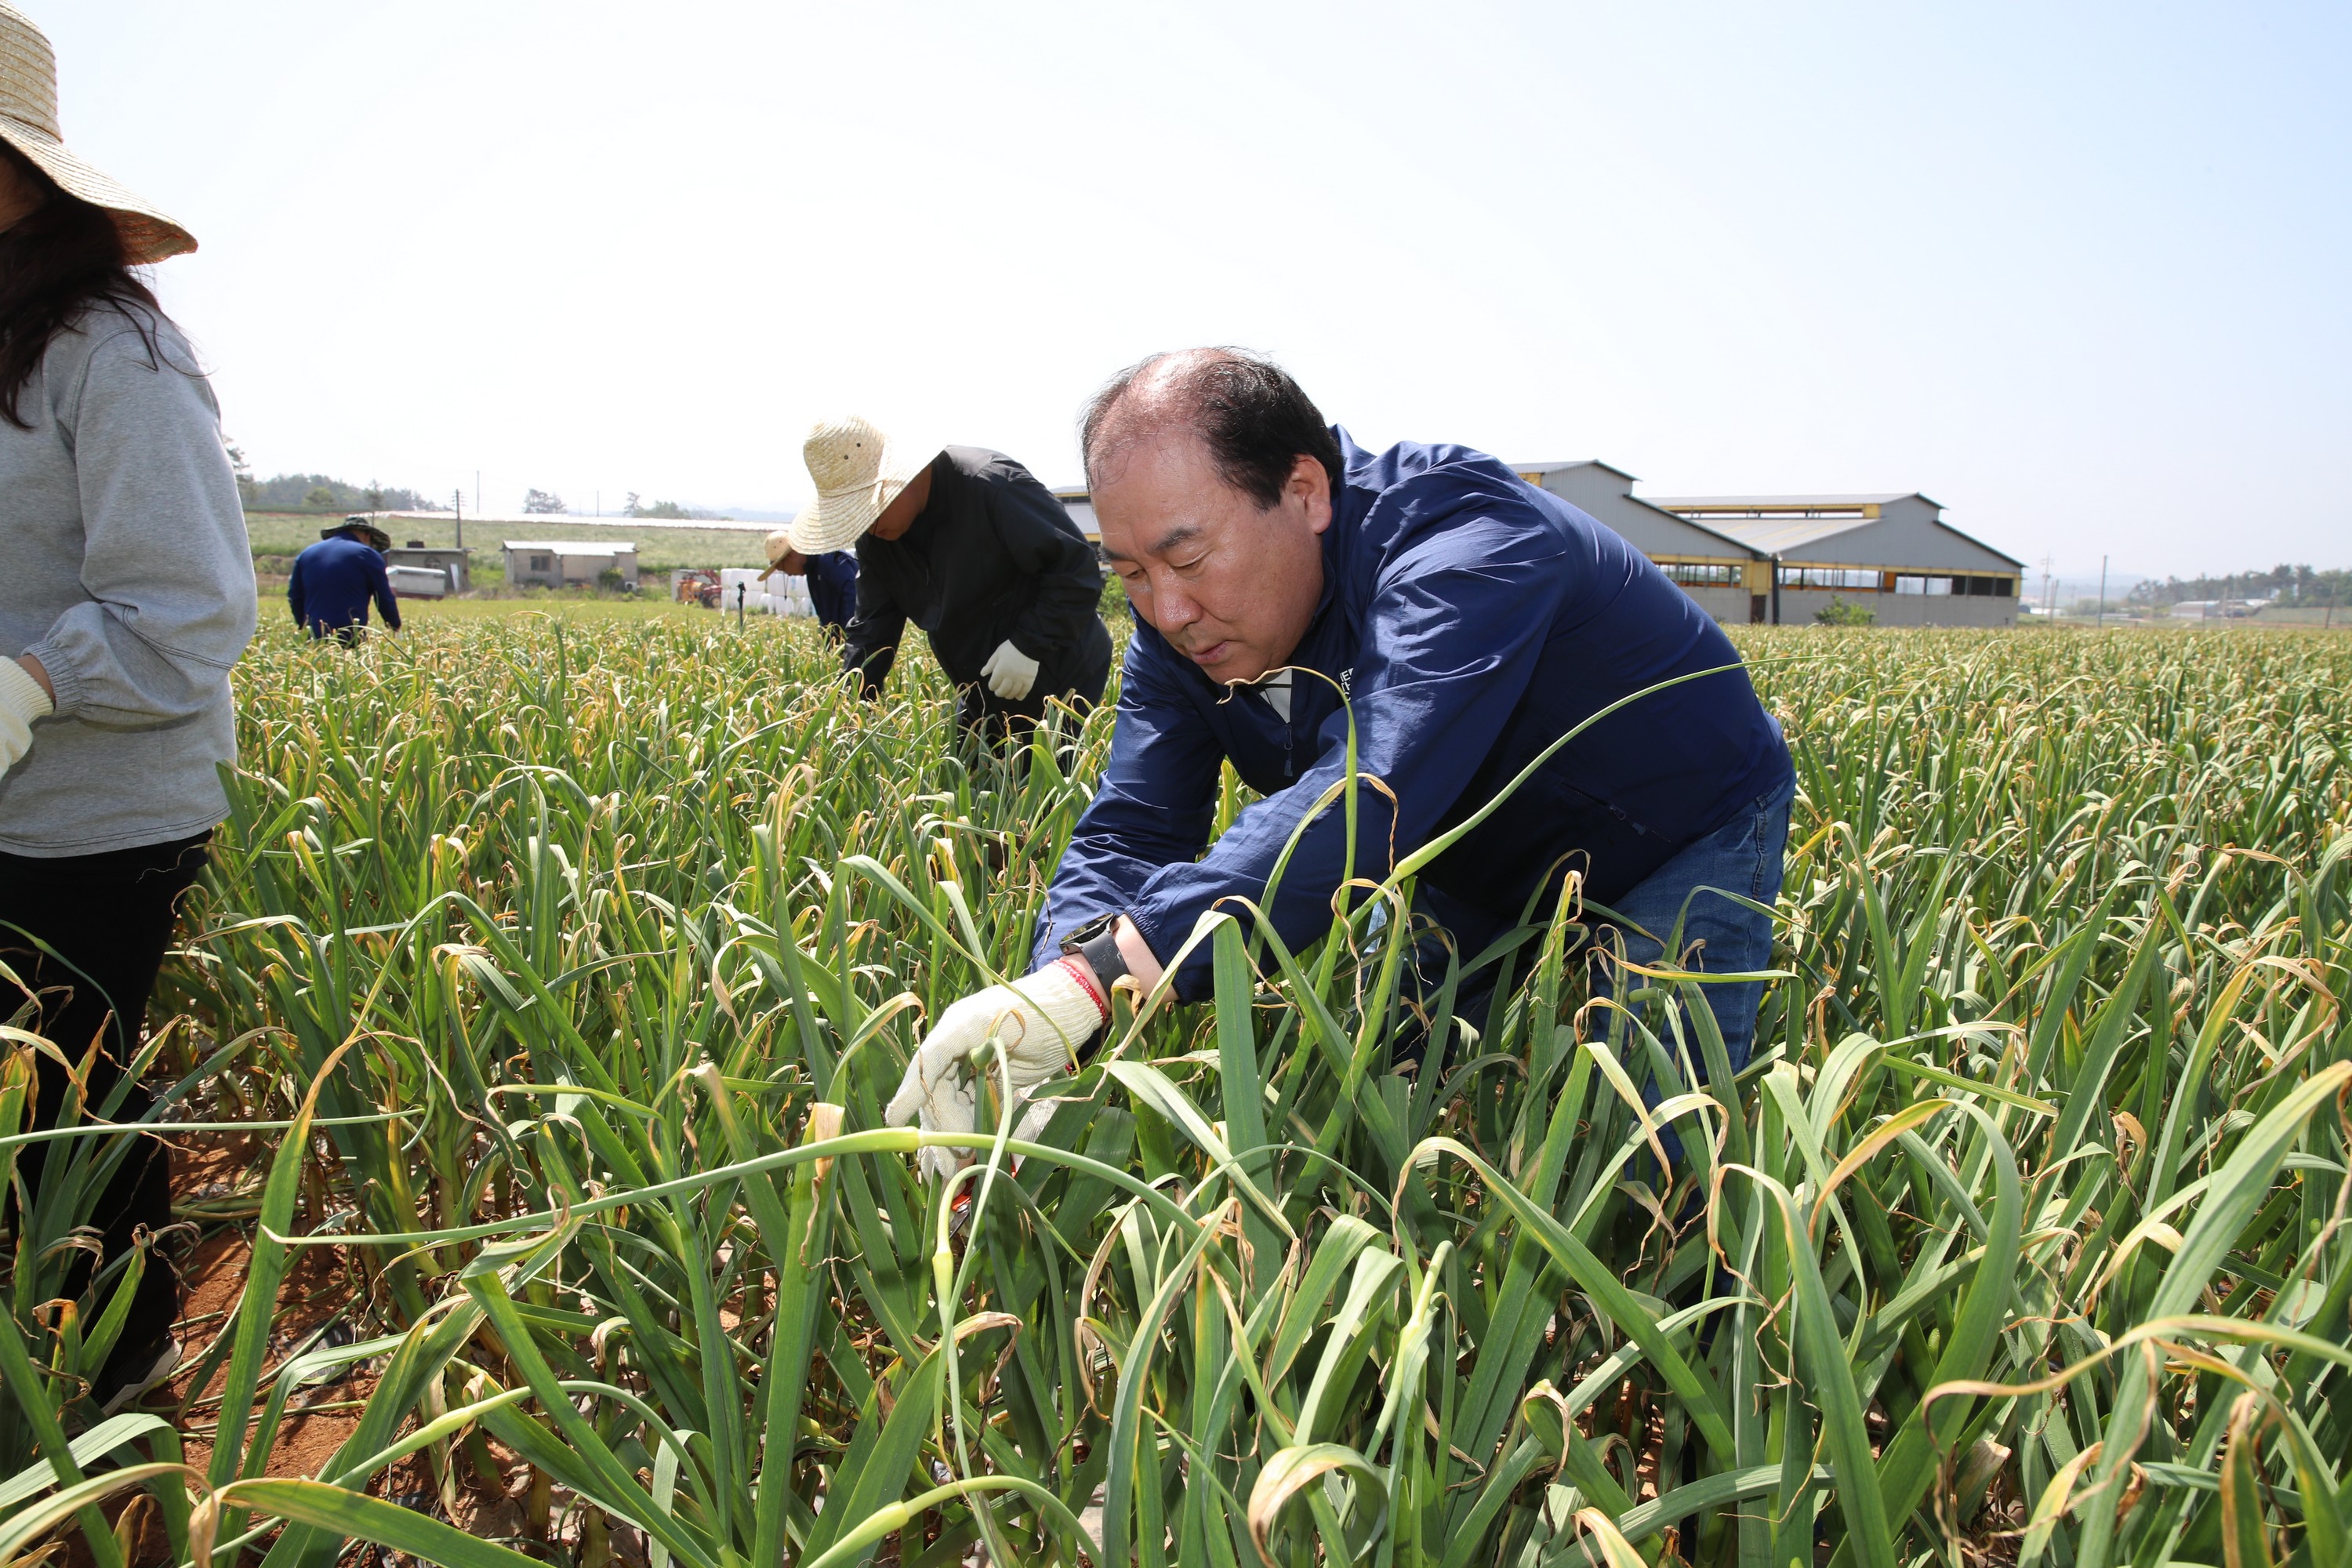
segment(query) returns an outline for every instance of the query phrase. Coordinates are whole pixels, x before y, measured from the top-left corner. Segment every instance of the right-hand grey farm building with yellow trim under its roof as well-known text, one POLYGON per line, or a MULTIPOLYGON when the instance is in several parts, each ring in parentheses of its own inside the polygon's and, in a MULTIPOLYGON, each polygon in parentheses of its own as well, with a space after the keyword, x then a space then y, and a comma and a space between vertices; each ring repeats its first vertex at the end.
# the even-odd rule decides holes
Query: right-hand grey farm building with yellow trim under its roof
POLYGON ((2025 562, 1962 534, 1919 491, 1658 496, 1651 505, 1778 562, 1778 604, 1766 604, 1759 621, 1804 625, 1844 599, 1872 611, 1879 625, 2018 623, 2025 562))

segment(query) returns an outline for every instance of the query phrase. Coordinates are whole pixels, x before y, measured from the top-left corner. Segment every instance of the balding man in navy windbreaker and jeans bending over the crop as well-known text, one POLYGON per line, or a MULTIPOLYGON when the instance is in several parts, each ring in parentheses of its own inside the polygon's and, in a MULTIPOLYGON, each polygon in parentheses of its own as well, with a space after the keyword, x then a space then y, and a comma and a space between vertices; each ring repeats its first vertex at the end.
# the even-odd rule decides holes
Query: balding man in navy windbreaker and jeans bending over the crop
MULTIPOLYGON (((1157 985, 1202 914, 1254 926, 1242 900, 1265 905, 1291 832, 1345 778, 1350 708, 1359 776, 1381 788, 1357 790, 1355 865, 1338 806, 1289 853, 1265 914, 1294 950, 1329 929, 1341 882, 1378 882, 1463 825, 1583 719, 1722 670, 1552 752, 1428 863, 1416 907, 1468 964, 1524 912, 1545 922, 1573 870, 1635 964, 1682 922, 1665 957, 1764 969, 1788 745, 1731 639, 1618 534, 1468 447, 1367 451, 1282 369, 1223 348, 1120 374, 1082 444, 1103 557, 1136 611, 1110 762, 1047 891, 1033 973, 938 1016, 894 1124, 969 1131, 967 1058, 990 1034, 1021 1041, 1011 1084, 1037 1088, 1108 1023, 1110 987, 1157 985), (1211 844, 1225 762, 1263 799, 1211 844)), ((1207 943, 1174 992, 1214 992, 1207 943)), ((1705 994, 1738 1067, 1762 983, 1705 994)), ((924 1164, 953 1164, 941 1154, 924 1164)))

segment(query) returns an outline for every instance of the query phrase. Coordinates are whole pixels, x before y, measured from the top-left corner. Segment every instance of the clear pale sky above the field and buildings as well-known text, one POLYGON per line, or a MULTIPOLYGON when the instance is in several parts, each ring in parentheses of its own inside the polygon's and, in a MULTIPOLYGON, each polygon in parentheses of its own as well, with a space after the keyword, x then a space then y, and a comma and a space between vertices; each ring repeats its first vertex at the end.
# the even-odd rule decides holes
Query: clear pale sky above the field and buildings
POLYGON ((261 473, 790 508, 863 409, 1063 482, 1225 341, 1364 442, 2352 564, 2345 5, 14 2, 261 473))

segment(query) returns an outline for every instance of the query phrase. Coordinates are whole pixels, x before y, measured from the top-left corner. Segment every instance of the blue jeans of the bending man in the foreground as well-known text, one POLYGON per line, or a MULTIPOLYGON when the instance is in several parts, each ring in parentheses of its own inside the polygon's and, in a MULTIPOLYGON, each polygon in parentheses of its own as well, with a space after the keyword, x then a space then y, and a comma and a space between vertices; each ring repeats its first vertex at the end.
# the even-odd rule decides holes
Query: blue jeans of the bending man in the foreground
MULTIPOLYGON (((1722 893, 1738 893, 1764 910, 1773 907, 1773 900, 1780 898, 1788 809, 1795 797, 1797 780, 1790 778, 1778 790, 1759 795, 1733 820, 1686 844, 1672 860, 1609 905, 1625 924, 1599 926, 1595 947, 1616 947, 1616 938, 1623 933, 1625 957, 1632 964, 1656 966, 1661 959, 1679 957, 1682 969, 1719 976, 1766 969, 1771 964, 1771 917, 1722 893), (1677 919, 1682 938, 1677 952, 1668 954, 1663 943, 1675 933, 1677 919)), ((1606 966, 1595 969, 1592 990, 1609 994, 1606 966)), ((1738 980, 1700 990, 1708 997, 1708 1011, 1715 1013, 1715 1025, 1724 1032, 1731 1070, 1738 1072, 1755 1051, 1764 983, 1738 980)), ((1668 1044, 1672 1046, 1672 1041, 1668 1044)), ((1691 1039, 1689 1048, 1691 1060, 1698 1063, 1698 1041, 1691 1039)))

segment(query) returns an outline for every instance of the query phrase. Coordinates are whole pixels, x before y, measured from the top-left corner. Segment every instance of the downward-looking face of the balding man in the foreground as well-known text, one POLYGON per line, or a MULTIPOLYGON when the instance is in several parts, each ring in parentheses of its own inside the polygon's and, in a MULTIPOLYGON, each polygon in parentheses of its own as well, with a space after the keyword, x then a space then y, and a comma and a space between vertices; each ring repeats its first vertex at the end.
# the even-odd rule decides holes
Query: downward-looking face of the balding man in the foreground
POLYGON ((1331 480, 1301 456, 1275 505, 1225 484, 1190 435, 1131 447, 1094 489, 1103 555, 1136 618, 1214 682, 1289 663, 1322 597, 1331 480))

